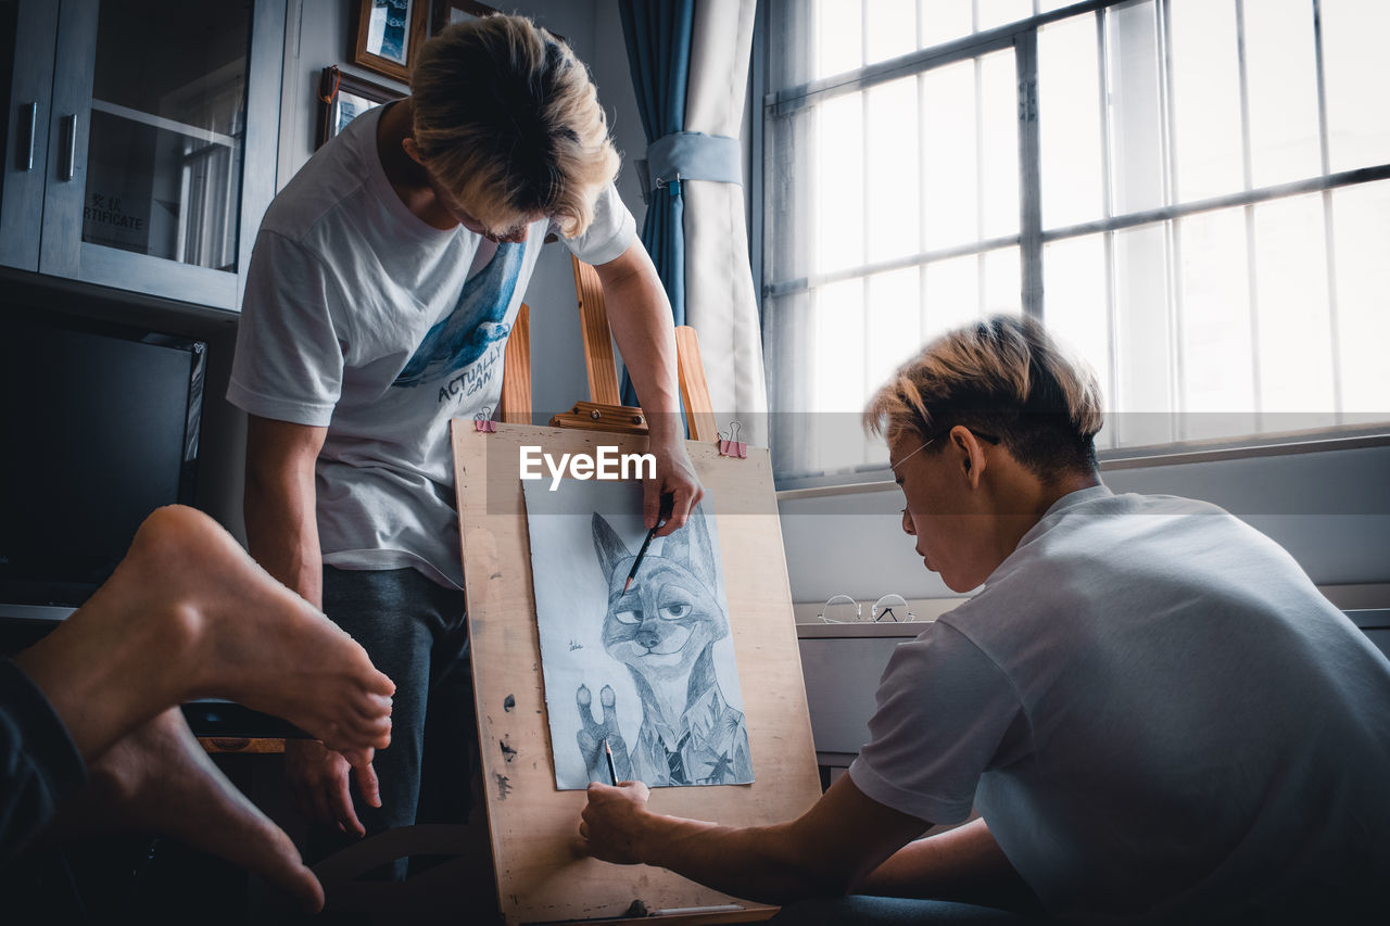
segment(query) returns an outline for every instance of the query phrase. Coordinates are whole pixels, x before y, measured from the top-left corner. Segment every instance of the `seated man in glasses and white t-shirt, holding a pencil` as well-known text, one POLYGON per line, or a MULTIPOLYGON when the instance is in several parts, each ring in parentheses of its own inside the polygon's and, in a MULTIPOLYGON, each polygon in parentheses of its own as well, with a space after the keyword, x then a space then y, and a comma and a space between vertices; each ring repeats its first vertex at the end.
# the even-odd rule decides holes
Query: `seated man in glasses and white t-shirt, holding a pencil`
POLYGON ((884 897, 1090 922, 1390 909, 1390 662, 1283 549, 1204 502, 1112 495, 1095 380, 1030 320, 927 345, 866 421, 923 564, 979 592, 898 647, 870 742, 799 819, 733 829, 592 784, 585 851, 760 901, 878 895, 781 913, 826 922, 960 915, 884 897))

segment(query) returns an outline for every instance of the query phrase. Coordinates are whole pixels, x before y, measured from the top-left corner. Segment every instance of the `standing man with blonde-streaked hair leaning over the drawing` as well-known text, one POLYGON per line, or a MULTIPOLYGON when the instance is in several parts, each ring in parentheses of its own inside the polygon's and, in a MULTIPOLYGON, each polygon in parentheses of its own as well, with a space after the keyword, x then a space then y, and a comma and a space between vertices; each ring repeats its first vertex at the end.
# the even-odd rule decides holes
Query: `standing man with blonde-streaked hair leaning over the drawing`
MULTIPOLYGON (((506 338, 549 231, 598 270, 646 412, 648 526, 663 495, 662 535, 699 502, 670 303, 617 170, 587 68, 530 19, 495 15, 431 39, 411 96, 354 120, 261 222, 228 391, 250 416, 250 551, 398 684, 379 811, 354 805, 339 756, 286 754, 297 805, 324 827, 414 822, 421 772, 427 791, 467 799, 461 751, 475 734, 448 427, 496 410, 506 338), (427 741, 441 755, 425 759, 427 741)), ((371 770, 357 781, 371 790, 371 770)))

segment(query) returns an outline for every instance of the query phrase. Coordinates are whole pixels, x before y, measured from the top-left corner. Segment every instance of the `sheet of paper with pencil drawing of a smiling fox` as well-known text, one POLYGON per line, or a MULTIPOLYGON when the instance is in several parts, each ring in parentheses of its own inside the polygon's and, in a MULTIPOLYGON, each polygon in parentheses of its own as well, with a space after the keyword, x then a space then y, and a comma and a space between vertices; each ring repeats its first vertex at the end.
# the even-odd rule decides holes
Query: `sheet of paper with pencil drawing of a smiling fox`
POLYGON ((523 482, 555 784, 748 784, 753 763, 709 495, 646 538, 631 481, 523 482))

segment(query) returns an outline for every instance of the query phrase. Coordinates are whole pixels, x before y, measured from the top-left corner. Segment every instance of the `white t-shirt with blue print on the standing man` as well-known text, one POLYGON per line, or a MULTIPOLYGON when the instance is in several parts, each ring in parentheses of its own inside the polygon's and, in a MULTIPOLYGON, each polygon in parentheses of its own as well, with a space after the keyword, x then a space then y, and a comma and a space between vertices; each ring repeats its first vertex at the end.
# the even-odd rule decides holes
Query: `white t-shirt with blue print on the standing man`
MULTIPOLYGON (((406 209, 377 153, 382 108, 352 121, 275 197, 252 253, 229 402, 328 425, 317 463, 324 562, 411 566, 463 585, 449 420, 492 417, 503 349, 539 257, 406 209)), ((607 263, 637 238, 610 185, 566 245, 607 263)))

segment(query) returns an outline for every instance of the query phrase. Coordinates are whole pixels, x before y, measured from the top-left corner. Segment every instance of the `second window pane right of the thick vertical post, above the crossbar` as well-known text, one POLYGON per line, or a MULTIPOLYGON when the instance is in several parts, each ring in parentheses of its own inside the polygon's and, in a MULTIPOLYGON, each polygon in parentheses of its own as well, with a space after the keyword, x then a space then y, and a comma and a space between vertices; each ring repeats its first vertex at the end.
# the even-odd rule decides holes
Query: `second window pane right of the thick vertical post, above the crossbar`
POLYGON ((1105 11, 1115 214, 1163 204, 1163 129, 1158 96, 1156 6, 1105 11))

